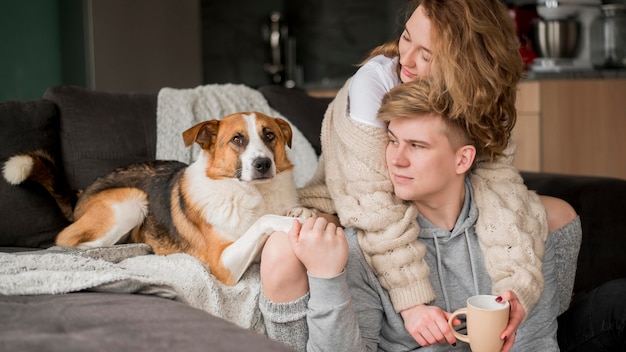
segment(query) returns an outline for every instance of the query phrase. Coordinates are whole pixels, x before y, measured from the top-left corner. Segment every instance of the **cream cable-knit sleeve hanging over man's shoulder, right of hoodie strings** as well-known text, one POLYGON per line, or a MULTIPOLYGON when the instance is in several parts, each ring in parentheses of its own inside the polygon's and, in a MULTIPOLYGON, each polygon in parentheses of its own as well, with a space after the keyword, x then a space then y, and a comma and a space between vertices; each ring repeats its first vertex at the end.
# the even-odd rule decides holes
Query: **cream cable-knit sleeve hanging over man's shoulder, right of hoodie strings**
POLYGON ((511 142, 504 157, 478 163, 470 177, 480 212, 476 235, 493 292, 515 292, 528 313, 544 287, 541 261, 548 224, 539 196, 512 165, 514 153, 511 142))

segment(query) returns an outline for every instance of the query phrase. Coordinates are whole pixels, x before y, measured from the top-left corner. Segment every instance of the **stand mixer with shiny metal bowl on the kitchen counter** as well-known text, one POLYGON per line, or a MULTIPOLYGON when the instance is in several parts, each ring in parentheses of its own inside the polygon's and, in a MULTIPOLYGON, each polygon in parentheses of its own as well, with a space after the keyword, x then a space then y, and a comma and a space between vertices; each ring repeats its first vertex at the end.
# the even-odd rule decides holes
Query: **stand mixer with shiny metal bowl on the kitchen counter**
POLYGON ((591 24, 601 0, 539 0, 533 71, 591 70, 591 24))

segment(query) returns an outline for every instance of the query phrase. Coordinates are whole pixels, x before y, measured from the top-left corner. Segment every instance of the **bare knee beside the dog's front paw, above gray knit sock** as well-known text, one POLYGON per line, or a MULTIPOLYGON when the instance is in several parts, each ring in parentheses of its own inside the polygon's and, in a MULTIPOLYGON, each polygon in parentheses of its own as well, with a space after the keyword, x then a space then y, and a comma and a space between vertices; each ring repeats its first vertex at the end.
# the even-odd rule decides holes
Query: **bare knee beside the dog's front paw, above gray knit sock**
POLYGON ((291 250, 285 233, 272 234, 263 247, 261 285, 265 296, 275 302, 289 302, 308 291, 306 269, 291 250))

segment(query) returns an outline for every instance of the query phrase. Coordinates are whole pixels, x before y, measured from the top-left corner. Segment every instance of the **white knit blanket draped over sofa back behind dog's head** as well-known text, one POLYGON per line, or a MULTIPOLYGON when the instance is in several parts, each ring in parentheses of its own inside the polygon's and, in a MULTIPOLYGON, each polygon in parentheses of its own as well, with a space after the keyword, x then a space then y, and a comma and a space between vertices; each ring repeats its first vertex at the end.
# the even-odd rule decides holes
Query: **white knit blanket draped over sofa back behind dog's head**
POLYGON ((294 181, 302 187, 317 168, 317 154, 302 132, 287 118, 272 109, 261 92, 240 84, 210 84, 191 89, 163 88, 157 101, 156 158, 193 162, 200 147, 185 148, 182 132, 206 120, 219 120, 236 112, 258 111, 280 117, 293 130, 293 143, 287 150, 294 164, 294 181))

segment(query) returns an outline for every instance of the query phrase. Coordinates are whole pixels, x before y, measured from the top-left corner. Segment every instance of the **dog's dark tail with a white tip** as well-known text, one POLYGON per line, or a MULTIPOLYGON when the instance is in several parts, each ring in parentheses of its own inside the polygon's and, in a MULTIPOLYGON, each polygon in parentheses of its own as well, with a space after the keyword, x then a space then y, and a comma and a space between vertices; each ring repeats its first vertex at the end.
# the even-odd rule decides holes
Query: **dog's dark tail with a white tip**
POLYGON ((4 179, 12 185, 20 185, 26 181, 42 185, 57 202, 63 215, 73 221, 73 209, 76 205, 78 192, 72 191, 54 159, 43 150, 34 150, 14 155, 4 163, 4 179))

